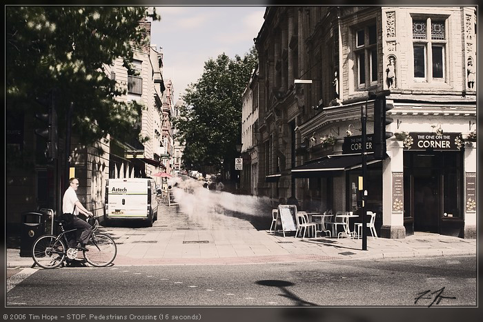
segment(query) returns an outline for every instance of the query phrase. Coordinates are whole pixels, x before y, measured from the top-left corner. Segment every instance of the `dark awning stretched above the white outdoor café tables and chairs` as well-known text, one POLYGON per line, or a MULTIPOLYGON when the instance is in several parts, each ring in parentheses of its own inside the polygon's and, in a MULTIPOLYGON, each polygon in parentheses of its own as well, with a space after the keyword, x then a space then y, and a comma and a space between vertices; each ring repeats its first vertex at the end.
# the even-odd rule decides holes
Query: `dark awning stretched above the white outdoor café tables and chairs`
MULTIPOLYGON (((367 164, 380 162, 375 160, 373 154, 367 154, 367 164)), ((332 177, 342 174, 346 170, 352 170, 362 167, 361 154, 332 154, 322 159, 317 159, 299 165, 292 169, 292 177, 309 178, 309 177, 332 177)))

